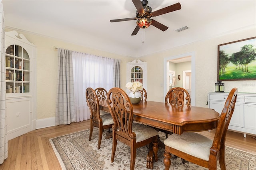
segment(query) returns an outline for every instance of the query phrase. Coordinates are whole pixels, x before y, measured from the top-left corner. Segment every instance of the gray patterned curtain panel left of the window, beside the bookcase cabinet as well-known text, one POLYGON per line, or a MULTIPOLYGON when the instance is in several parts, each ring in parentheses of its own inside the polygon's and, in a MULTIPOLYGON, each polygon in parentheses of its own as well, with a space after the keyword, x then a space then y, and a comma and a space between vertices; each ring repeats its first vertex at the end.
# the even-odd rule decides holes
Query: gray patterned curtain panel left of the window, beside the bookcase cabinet
POLYGON ((58 86, 55 125, 76 121, 72 51, 58 48, 58 86))

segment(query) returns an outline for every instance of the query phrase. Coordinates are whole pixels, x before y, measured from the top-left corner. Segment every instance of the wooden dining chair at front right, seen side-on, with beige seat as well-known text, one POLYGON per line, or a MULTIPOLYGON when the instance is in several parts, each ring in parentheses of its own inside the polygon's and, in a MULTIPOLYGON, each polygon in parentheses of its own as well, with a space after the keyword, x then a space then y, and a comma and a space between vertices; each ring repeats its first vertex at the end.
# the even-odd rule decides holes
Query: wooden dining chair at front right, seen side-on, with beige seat
POLYGON ((230 91, 220 115, 213 140, 196 132, 185 132, 181 135, 172 134, 164 140, 165 170, 169 170, 171 165, 170 153, 209 170, 216 170, 219 160, 220 168, 226 170, 225 140, 228 125, 234 112, 237 93, 237 88, 233 88, 230 91))

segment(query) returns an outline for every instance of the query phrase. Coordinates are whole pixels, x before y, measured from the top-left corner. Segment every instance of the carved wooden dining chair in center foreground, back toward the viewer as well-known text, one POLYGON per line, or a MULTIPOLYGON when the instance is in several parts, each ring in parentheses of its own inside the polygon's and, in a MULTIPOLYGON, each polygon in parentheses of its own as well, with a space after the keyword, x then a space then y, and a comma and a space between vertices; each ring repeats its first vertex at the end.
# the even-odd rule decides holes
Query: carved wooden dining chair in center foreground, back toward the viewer
POLYGON ((149 126, 133 122, 133 105, 128 95, 122 89, 117 87, 110 89, 107 99, 108 108, 114 120, 114 125, 112 126, 113 145, 111 162, 114 162, 117 140, 130 146, 130 170, 134 170, 136 148, 151 142, 153 142, 153 157, 157 162, 158 131, 149 126))

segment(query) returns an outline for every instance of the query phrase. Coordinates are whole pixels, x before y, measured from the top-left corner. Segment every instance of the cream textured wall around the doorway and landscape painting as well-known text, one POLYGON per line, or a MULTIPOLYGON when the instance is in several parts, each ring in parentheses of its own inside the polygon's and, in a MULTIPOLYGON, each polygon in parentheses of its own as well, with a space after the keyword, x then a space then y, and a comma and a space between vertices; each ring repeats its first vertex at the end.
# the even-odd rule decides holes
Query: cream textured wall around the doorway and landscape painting
MULTIPOLYGON (((229 34, 219 35, 207 40, 175 47, 159 53, 140 57, 148 63, 148 99, 149 101, 163 101, 164 98, 164 58, 195 52, 196 55, 196 106, 208 107, 207 94, 214 91, 217 81, 217 46, 218 44, 233 42, 256 36, 256 28, 244 28, 229 34)), ((239 92, 256 93, 256 80, 251 81, 223 81, 225 91, 238 87, 239 92)))

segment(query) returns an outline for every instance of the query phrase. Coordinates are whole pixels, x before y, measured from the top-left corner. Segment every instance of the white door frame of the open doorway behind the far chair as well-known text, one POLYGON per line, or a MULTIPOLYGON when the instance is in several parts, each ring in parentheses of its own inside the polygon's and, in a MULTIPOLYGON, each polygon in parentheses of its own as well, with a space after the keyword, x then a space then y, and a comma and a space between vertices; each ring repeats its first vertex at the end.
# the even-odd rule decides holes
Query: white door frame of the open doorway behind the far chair
MULTIPOLYGON (((169 91, 169 70, 170 70, 170 60, 176 60, 176 62, 180 61, 180 62, 184 62, 184 60, 188 59, 188 57, 190 57, 191 59, 191 71, 190 71, 190 77, 188 80, 188 78, 186 78, 186 74, 188 74, 188 70, 185 70, 185 80, 191 82, 189 86, 191 86, 191 91, 190 91, 190 98, 191 98, 191 105, 195 106, 195 101, 196 101, 196 89, 195 89, 195 72, 196 72, 196 67, 195 67, 195 53, 194 52, 190 52, 190 53, 184 53, 181 55, 175 55, 175 56, 170 56, 170 57, 165 57, 164 58, 164 96, 166 95, 167 91, 169 91), (187 72, 186 72, 187 71, 187 72)), ((183 75, 182 75, 183 76, 183 75)), ((184 77, 184 76, 183 76, 184 77)), ((183 79, 183 81, 184 81, 183 79)))

